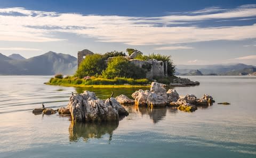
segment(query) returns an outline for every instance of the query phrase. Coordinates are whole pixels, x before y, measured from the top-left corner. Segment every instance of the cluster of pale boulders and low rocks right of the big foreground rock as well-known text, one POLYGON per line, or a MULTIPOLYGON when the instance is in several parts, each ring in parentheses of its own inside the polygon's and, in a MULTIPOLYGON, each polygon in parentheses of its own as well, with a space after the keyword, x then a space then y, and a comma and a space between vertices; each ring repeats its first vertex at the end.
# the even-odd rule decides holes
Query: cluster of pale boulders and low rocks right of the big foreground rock
POLYGON ((195 111, 197 106, 208 106, 214 102, 212 96, 207 94, 204 94, 200 99, 197 99, 193 94, 179 96, 177 91, 173 89, 169 89, 166 92, 164 86, 165 84, 152 82, 150 90, 135 91, 132 94, 135 105, 151 107, 174 106, 184 111, 195 111))

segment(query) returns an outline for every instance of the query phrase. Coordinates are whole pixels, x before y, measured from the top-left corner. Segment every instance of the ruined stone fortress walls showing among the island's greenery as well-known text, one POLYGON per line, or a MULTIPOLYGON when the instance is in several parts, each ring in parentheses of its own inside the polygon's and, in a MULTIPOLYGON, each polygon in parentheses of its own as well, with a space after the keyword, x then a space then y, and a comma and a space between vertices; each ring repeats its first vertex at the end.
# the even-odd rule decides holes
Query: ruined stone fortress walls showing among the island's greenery
MULTIPOLYGON (((77 53, 77 65, 79 67, 80 63, 87 55, 92 55, 93 52, 87 49, 82 51, 78 51, 77 53)), ((146 77, 148 79, 152 79, 155 76, 167 76, 167 62, 159 61, 156 59, 151 60, 137 60, 134 59, 140 52, 134 51, 130 56, 126 56, 124 58, 129 59, 133 64, 140 68, 144 68, 146 70, 146 77)), ((108 59, 110 60, 110 58, 108 59)), ((108 62, 107 60, 107 62, 108 62)))

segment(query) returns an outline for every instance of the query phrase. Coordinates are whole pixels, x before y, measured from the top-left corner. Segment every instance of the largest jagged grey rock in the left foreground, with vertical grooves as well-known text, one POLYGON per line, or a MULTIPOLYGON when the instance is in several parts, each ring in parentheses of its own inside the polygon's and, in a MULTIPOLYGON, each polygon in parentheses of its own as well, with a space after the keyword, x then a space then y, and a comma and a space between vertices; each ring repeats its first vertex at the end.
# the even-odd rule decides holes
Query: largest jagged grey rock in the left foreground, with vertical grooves
POLYGON ((103 102, 90 91, 71 96, 67 108, 74 122, 119 121, 119 116, 128 115, 115 98, 103 102))

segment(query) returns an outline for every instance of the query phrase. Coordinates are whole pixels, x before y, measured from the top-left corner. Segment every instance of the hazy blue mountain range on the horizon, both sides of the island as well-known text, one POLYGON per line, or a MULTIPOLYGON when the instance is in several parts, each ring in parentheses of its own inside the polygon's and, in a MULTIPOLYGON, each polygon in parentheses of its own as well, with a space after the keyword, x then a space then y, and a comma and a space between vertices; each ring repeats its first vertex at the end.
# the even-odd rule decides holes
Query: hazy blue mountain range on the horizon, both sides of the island
MULTIPOLYGON (((1 75, 73 75, 77 69, 77 58, 67 54, 46 52, 26 59, 19 54, 5 56, 0 53, 1 75)), ((256 66, 229 65, 177 65, 175 75, 247 75, 255 74, 256 66)))

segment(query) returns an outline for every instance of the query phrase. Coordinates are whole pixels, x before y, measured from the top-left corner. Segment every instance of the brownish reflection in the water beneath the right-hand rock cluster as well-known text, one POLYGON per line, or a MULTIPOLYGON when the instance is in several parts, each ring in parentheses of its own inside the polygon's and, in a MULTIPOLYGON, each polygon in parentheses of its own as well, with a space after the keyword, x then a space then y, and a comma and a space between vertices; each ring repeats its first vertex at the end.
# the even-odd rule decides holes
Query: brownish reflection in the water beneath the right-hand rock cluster
POLYGON ((150 119, 156 124, 159 120, 163 120, 166 116, 167 107, 150 108, 134 106, 134 111, 141 113, 141 115, 149 115, 150 119))

